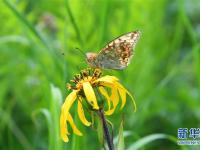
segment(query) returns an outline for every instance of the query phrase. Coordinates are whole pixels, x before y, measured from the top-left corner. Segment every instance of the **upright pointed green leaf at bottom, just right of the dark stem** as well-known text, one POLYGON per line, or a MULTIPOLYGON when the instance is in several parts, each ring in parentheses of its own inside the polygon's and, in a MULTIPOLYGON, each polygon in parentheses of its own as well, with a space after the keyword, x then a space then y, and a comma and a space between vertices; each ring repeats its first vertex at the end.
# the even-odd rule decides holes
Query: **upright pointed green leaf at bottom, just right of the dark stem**
POLYGON ((124 149, 125 149, 125 146, 124 146, 123 120, 122 120, 119 127, 117 150, 124 150, 124 149))

